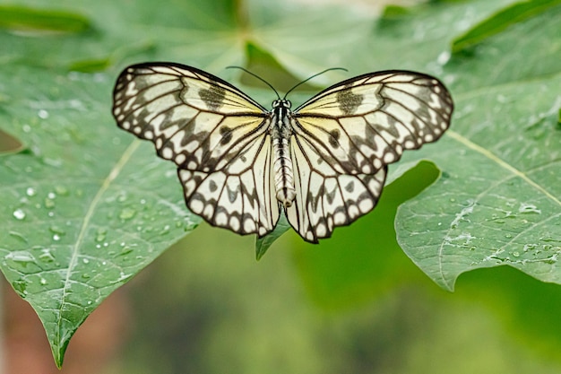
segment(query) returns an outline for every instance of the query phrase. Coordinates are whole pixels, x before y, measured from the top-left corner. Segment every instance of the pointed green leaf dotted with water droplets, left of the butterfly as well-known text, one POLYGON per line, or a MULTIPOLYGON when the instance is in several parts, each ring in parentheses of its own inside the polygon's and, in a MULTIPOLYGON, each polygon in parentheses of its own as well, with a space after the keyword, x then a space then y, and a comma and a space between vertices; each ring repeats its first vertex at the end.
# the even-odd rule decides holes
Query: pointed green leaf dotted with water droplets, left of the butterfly
POLYGON ((174 168, 115 131, 108 81, 0 74, 18 87, 0 118, 29 149, 0 157, 9 181, 0 185, 0 268, 37 311, 60 365, 91 311, 200 220, 187 213, 174 168), (27 84, 16 84, 22 76, 27 84))

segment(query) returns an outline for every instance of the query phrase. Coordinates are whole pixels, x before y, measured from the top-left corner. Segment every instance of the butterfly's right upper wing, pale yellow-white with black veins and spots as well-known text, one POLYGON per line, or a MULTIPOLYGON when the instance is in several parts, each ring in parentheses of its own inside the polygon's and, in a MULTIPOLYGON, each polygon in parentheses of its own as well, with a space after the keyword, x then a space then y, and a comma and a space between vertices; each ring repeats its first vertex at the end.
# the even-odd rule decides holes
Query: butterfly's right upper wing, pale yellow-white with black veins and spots
POLYGON ((372 174, 403 151, 435 142, 453 101, 436 78, 408 71, 364 74, 333 85, 295 110, 294 129, 345 174, 372 174))

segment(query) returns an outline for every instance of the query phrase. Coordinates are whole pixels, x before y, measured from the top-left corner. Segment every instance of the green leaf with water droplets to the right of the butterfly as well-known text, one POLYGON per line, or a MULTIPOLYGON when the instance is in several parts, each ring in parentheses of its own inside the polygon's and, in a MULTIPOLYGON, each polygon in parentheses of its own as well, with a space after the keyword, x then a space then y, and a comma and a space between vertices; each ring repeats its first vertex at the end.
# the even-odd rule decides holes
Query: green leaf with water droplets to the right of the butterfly
POLYGON ((497 265, 561 283, 561 48, 540 45, 559 45, 560 16, 561 6, 540 13, 462 64, 479 88, 456 90, 453 127, 431 157, 443 178, 398 211, 401 247, 448 290, 459 274, 497 265), (527 59, 536 64, 516 68, 527 59))

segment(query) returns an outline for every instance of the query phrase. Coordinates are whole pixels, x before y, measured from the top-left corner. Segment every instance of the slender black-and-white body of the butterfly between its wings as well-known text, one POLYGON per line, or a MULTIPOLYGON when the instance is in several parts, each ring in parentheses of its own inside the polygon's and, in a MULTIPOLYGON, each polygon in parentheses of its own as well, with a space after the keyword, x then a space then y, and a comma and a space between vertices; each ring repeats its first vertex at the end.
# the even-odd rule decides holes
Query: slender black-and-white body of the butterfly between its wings
POLYGON ((272 166, 277 200, 285 207, 292 205, 296 197, 294 173, 290 158, 289 144, 292 135, 290 126, 290 101, 274 100, 272 102, 272 166))

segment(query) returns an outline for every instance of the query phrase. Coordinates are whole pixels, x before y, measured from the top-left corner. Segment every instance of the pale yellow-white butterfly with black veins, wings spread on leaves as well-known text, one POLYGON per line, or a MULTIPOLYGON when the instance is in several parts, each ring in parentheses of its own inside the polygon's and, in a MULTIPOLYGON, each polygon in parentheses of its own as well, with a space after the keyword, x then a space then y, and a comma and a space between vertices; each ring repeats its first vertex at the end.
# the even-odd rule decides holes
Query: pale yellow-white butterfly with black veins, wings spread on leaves
POLYGON ((117 125, 176 163, 191 212, 261 238, 283 211, 314 243, 374 209, 387 165, 440 138, 453 112, 443 83, 400 70, 268 110, 197 68, 145 63, 125 68, 113 96, 117 125))

